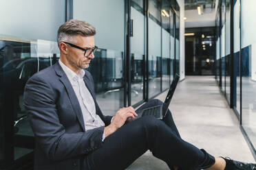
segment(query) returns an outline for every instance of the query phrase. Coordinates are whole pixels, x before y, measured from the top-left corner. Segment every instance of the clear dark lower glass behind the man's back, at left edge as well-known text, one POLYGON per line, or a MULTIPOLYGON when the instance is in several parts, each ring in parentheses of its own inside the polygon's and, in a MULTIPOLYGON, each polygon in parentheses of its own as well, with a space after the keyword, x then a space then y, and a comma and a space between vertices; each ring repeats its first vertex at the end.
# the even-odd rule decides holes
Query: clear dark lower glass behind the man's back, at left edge
POLYGON ((56 42, 0 40, 0 161, 8 164, 33 151, 34 134, 23 106, 23 89, 34 73, 54 64, 58 57, 56 42))

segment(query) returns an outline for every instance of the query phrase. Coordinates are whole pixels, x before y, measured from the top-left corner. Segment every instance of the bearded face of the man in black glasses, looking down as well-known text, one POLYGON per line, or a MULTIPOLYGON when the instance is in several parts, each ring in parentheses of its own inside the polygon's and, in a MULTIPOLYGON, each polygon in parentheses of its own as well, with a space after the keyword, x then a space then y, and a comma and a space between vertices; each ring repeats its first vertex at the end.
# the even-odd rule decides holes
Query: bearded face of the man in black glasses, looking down
MULTIPOLYGON (((70 43, 82 47, 83 49, 92 49, 95 47, 94 36, 73 36, 72 42, 70 43)), ((85 57, 85 51, 82 49, 77 49, 70 45, 67 45, 67 48, 67 62, 76 69, 87 69, 90 60, 94 58, 94 53, 85 57)))

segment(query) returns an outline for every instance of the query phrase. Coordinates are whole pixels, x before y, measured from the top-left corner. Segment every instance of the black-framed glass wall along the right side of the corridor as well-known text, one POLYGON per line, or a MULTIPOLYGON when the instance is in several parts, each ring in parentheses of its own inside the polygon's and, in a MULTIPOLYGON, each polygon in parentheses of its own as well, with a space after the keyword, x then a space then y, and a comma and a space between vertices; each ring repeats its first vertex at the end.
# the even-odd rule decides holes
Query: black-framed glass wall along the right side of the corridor
MULTIPOLYGON (((234 0, 233 4, 231 2, 229 0, 221 1, 219 7, 222 17, 220 51, 222 60, 224 60, 221 65, 222 69, 220 69, 222 71, 221 88, 228 101, 233 99, 234 103, 231 104, 231 107, 237 113, 242 125, 242 132, 246 134, 245 136, 256 154, 256 20, 253 19, 256 14, 256 1, 234 0), (233 13, 231 13, 232 8, 233 13), (233 58, 231 58, 232 56, 233 58), (230 62, 231 59, 233 59, 233 63, 230 62), (231 86, 230 80, 234 80, 234 88, 231 86)), ((218 27, 217 20, 216 26, 218 27)), ((219 40, 216 38, 216 45, 218 44, 219 40)), ((217 51, 218 49, 216 49, 217 51)), ((217 53, 216 58, 218 58, 217 53)), ((219 68, 216 66, 217 73, 219 68)))

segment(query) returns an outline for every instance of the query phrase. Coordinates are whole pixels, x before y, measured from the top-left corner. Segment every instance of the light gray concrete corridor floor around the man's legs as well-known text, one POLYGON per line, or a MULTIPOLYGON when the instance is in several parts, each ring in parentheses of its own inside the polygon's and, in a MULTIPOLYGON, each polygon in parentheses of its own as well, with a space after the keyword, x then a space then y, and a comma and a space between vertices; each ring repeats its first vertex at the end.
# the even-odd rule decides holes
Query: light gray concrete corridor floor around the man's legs
MULTIPOLYGON (((159 95, 164 100, 167 91, 159 95)), ((239 121, 211 76, 186 76, 180 82, 169 107, 182 138, 204 148, 213 156, 255 162, 239 129, 239 121)), ((165 162, 147 151, 129 170, 169 169, 165 162)))

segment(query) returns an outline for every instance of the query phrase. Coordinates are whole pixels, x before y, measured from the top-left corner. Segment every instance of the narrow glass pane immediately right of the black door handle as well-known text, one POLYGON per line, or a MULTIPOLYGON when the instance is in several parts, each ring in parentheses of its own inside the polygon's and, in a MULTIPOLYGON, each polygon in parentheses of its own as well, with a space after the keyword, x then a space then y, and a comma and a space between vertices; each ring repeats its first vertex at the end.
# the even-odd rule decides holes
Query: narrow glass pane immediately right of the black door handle
POLYGON ((133 36, 131 37, 131 105, 143 100, 145 65, 145 15, 143 1, 131 1, 133 36))

